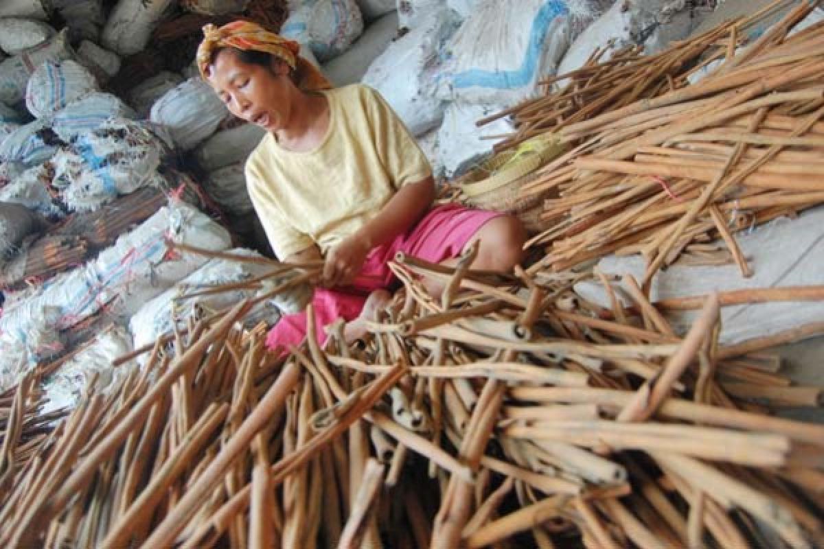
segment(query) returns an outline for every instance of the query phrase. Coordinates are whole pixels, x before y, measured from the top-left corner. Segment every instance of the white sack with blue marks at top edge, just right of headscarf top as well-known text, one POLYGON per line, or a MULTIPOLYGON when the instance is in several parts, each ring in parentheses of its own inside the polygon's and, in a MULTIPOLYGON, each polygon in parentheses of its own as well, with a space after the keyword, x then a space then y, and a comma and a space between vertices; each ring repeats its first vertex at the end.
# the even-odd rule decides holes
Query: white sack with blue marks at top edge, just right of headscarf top
POLYGON ((304 0, 280 29, 286 38, 308 44, 319 61, 343 54, 363 32, 355 0, 304 0))

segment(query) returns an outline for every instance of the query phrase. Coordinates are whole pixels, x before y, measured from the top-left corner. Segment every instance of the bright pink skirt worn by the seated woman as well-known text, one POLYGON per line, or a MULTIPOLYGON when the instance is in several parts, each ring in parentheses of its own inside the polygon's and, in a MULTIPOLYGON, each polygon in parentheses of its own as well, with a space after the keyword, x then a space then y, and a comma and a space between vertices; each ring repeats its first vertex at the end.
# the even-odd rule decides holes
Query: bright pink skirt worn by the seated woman
MULTIPOLYGON (((395 254, 404 252, 431 263, 455 258, 466 243, 487 221, 502 216, 500 212, 471 210, 459 204, 443 204, 430 210, 419 223, 389 244, 382 244, 366 258, 363 270, 353 286, 344 290, 317 288, 312 297, 318 342, 326 340, 325 326, 336 319, 357 319, 372 291, 389 288, 396 281, 388 263, 395 254)), ((288 314, 280 319, 266 337, 266 347, 288 349, 297 346, 307 334, 306 312, 288 314)))

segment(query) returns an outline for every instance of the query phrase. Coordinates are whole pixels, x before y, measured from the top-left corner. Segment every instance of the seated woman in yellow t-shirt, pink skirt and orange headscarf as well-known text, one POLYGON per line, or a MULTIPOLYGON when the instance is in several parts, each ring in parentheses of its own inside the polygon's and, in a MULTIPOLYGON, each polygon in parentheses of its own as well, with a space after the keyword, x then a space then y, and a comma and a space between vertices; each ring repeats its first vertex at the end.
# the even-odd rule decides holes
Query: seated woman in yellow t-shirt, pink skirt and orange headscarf
MULTIPOLYGON (((324 262, 313 297, 321 340, 337 318, 354 321, 348 338, 358 335, 363 316, 388 299, 386 263, 397 251, 454 263, 479 240, 473 268, 506 272, 520 261, 517 218, 433 207, 428 161, 381 95, 361 85, 331 90, 298 49, 235 21, 204 27, 197 62, 232 114, 267 130, 246 161, 246 185, 281 261, 324 262)), ((306 322, 305 313, 283 317, 267 346, 297 345, 306 322)))

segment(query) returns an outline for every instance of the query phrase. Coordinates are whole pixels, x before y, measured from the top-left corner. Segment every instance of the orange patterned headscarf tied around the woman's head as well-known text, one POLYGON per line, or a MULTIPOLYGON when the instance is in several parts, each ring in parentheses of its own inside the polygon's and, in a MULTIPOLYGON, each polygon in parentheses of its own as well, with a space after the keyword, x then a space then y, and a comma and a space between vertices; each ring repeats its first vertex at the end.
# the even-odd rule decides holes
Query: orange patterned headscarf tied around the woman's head
POLYGON ((206 78, 208 66, 215 51, 221 48, 235 48, 243 51, 260 51, 282 59, 301 76, 297 86, 302 91, 328 90, 332 87, 321 71, 297 53, 300 44, 265 30, 250 21, 232 21, 220 28, 204 26, 204 40, 198 46, 197 63, 200 75, 206 78))

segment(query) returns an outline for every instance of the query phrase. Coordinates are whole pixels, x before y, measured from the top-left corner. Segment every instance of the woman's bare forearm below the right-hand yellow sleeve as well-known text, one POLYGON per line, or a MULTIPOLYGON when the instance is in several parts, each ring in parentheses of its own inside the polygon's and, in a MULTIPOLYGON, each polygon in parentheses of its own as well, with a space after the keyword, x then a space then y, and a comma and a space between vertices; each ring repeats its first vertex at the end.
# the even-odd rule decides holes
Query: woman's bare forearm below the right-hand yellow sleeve
POLYGON ((355 237, 374 248, 391 242, 420 221, 435 199, 435 182, 432 176, 417 183, 407 184, 390 198, 377 216, 372 217, 355 237))

